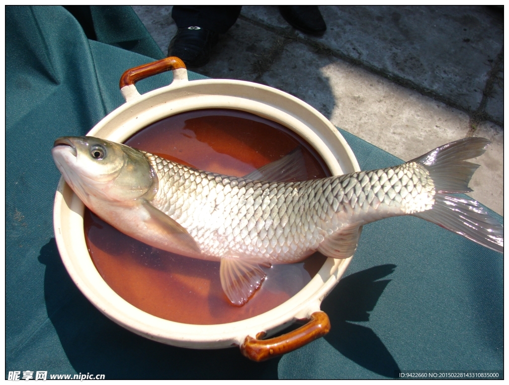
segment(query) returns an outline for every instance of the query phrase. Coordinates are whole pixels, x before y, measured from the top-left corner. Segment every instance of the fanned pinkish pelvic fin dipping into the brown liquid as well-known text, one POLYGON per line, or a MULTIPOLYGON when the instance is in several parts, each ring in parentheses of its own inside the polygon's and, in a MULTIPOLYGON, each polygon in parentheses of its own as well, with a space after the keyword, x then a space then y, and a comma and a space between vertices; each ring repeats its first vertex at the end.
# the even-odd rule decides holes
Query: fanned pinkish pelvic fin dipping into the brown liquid
POLYGON ((258 263, 235 257, 221 257, 219 277, 224 293, 235 306, 244 305, 262 285, 266 274, 258 263))

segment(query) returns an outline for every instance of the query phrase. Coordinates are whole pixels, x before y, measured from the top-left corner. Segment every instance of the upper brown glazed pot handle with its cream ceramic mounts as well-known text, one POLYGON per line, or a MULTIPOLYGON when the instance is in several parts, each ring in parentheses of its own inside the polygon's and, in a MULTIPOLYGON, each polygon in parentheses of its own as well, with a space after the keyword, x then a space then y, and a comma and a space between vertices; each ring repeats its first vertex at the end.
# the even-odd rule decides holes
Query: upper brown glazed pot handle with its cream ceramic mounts
POLYGON ((169 58, 158 60, 157 62, 143 64, 125 71, 120 77, 120 91, 126 101, 135 99, 140 96, 134 86, 136 81, 166 71, 174 71, 172 84, 181 80, 187 81, 186 65, 179 58, 171 56, 169 58))

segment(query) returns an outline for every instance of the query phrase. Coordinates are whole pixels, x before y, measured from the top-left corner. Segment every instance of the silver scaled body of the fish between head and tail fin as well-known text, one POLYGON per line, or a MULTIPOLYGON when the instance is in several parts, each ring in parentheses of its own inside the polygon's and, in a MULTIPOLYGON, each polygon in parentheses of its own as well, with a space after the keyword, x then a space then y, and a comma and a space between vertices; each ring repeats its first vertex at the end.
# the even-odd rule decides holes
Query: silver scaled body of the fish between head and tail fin
POLYGON ((186 228, 203 252, 218 258, 242 255, 294 262, 349 223, 363 225, 433 205, 433 181, 415 162, 346 176, 269 183, 195 170, 150 153, 145 156, 159 178, 151 203, 186 228), (419 193, 412 194, 417 189, 419 193), (294 250, 291 256, 285 255, 289 249, 294 250))

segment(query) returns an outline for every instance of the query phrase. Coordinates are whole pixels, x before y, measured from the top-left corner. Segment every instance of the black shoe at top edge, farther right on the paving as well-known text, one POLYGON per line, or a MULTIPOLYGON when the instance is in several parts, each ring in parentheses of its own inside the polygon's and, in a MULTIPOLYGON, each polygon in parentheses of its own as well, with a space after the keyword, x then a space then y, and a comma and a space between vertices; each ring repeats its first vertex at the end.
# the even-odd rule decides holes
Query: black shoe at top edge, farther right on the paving
POLYGON ((279 6, 281 16, 305 34, 322 36, 327 25, 318 9, 318 6, 279 6))

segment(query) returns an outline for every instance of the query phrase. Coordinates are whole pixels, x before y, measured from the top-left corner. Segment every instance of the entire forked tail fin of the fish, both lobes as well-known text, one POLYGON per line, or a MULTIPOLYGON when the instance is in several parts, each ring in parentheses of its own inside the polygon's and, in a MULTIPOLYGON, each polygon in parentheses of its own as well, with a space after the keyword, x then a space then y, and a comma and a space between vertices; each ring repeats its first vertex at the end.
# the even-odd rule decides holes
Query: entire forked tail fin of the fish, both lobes
POLYGON ((413 215, 503 253, 503 225, 478 202, 447 195, 472 191, 468 183, 479 166, 465 160, 482 155, 489 144, 487 139, 468 137, 411 160, 428 170, 436 193, 430 210, 413 215))

